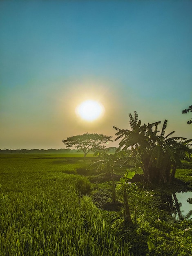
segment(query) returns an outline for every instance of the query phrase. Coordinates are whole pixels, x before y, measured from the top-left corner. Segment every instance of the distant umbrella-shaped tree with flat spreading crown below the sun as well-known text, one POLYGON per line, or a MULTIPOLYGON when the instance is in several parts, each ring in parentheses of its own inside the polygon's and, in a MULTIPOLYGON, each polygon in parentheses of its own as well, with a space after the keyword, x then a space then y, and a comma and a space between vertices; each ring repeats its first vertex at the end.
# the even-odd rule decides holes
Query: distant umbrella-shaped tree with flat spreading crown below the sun
POLYGON ((103 134, 97 133, 83 133, 83 135, 76 135, 64 139, 62 142, 67 145, 67 148, 75 147, 80 149, 84 153, 84 159, 86 155, 92 151, 104 149, 106 146, 102 144, 106 144, 111 140, 112 136, 105 136, 103 134))

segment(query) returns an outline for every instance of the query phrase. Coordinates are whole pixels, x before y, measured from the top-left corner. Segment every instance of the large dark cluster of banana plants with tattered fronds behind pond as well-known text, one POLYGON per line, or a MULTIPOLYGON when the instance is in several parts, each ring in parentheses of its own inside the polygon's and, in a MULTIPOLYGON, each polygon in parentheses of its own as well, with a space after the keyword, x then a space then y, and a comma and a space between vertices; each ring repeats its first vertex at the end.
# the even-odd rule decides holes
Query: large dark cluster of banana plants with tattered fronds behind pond
POLYGON ((115 140, 123 138, 119 143, 120 150, 131 147, 132 156, 138 159, 143 170, 144 178, 148 182, 170 182, 175 175, 176 166, 180 163, 183 154, 189 150, 188 143, 192 141, 183 137, 170 137, 175 131, 165 135, 167 120, 163 123, 161 134, 158 135, 158 126, 161 121, 141 126, 135 111, 134 118, 131 114, 130 126, 132 130, 121 130, 113 126, 118 136, 115 140))

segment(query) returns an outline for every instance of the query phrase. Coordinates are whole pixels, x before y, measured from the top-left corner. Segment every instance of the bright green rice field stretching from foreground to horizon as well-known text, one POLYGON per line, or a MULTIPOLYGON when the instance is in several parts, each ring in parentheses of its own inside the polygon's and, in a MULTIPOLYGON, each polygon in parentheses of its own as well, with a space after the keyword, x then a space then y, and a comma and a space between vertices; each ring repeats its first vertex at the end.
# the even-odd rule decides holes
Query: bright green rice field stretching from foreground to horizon
POLYGON ((75 159, 0 155, 0 256, 129 255, 75 159))

